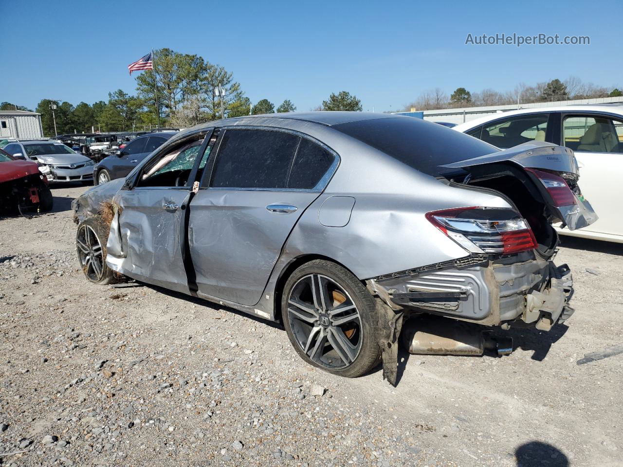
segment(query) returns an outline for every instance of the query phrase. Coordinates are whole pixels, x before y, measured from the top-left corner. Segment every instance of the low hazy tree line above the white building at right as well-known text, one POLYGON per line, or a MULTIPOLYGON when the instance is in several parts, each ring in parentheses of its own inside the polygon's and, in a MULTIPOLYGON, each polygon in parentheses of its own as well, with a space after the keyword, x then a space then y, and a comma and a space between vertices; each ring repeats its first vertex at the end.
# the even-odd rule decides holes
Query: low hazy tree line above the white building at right
POLYGON ((515 89, 507 92, 487 88, 481 92, 472 93, 461 87, 448 96, 441 88, 435 88, 422 92, 416 100, 405 106, 405 110, 411 108, 436 110, 621 96, 623 96, 623 92, 618 88, 613 89, 596 86, 592 83, 583 83, 578 77, 572 76, 564 81, 553 79, 549 82, 536 83, 533 86, 521 83, 515 89))

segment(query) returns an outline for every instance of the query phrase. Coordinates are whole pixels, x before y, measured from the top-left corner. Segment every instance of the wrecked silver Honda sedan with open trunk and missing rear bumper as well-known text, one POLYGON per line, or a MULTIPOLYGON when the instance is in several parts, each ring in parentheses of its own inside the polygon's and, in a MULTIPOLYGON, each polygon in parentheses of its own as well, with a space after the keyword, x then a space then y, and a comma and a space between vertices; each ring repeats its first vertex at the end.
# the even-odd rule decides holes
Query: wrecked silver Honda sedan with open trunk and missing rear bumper
POLYGON ((190 128, 73 208, 88 280, 131 278, 279 321, 309 364, 356 377, 383 361, 392 383, 409 316, 543 331, 569 318, 551 224, 597 219, 568 148, 500 151, 359 112, 190 128))

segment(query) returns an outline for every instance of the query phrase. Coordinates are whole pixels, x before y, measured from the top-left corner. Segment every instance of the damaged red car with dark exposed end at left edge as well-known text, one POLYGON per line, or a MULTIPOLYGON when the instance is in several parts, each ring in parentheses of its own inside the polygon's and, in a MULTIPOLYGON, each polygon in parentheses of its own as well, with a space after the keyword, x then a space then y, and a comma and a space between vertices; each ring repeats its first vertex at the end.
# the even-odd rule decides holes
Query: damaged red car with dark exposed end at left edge
POLYGON ((34 162, 21 161, 0 149, 0 210, 52 209, 54 197, 34 162))

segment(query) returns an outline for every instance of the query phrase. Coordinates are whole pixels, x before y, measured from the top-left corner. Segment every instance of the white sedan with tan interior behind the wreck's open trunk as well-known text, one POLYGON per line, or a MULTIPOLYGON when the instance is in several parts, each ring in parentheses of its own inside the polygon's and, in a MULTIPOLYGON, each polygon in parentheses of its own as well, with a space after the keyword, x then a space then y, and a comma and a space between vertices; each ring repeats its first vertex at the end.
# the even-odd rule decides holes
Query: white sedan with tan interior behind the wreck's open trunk
POLYGON ((493 113, 457 125, 498 148, 526 141, 548 141, 573 149, 582 194, 599 215, 583 229, 560 234, 623 243, 623 105, 568 105, 493 113))

